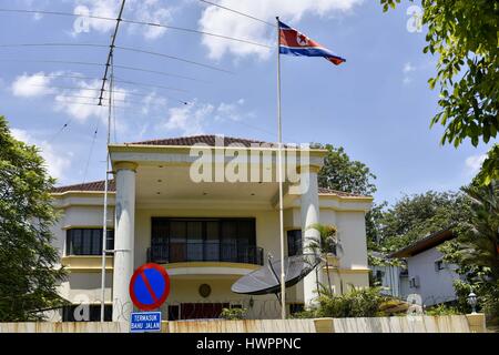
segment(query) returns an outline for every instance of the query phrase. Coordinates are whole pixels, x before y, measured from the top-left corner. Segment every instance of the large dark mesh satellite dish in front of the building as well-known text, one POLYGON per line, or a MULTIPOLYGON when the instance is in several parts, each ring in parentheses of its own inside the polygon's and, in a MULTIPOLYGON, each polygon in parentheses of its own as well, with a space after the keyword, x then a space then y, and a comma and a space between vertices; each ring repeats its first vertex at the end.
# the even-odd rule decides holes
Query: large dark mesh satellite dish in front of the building
MULTIPOLYGON (((320 258, 315 254, 296 255, 284 258, 286 287, 296 285, 308 275, 320 258)), ((281 291, 281 261, 271 261, 267 265, 241 277, 232 285, 232 292, 245 295, 277 294, 281 291)))

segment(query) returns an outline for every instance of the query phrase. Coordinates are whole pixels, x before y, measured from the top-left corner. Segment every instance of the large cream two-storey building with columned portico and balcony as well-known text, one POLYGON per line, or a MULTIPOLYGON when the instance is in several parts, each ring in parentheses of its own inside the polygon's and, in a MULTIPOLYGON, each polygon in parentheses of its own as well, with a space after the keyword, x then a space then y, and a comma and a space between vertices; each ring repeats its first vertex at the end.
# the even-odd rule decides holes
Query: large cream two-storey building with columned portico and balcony
MULTIPOLYGON (((231 292, 238 277, 266 263, 267 253, 279 256, 278 184, 266 179, 276 175, 275 146, 228 138, 220 145, 215 136, 200 135, 112 144, 109 150, 114 181, 106 248, 114 252, 106 260, 108 318, 112 313, 113 321, 128 321, 133 308, 129 282, 146 262, 164 265, 170 274, 171 293, 162 311, 171 320, 215 317, 226 306, 244 306, 249 317, 278 317, 275 296, 231 292), (243 155, 248 158, 244 166, 234 170, 234 161, 243 155), (213 171, 198 169, 200 156, 214 158, 213 171), (234 170, 238 179, 217 176, 220 168, 234 170), (193 170, 214 181, 200 182, 193 170)), ((325 151, 293 153, 286 148, 286 153, 288 161, 298 155, 294 172, 299 178, 284 185, 286 256, 301 253, 315 235, 306 226, 335 224, 344 248, 333 272, 335 292, 368 286, 364 217, 373 199, 319 189, 317 172, 325 151)), ((91 305, 92 320, 99 318, 101 302, 103 190, 101 181, 53 191, 62 212, 53 230, 55 243, 70 273, 61 295, 74 306, 91 305)), ((288 312, 310 304, 315 290, 315 273, 288 288, 288 312)), ((71 307, 63 313, 63 320, 74 317, 71 307)))

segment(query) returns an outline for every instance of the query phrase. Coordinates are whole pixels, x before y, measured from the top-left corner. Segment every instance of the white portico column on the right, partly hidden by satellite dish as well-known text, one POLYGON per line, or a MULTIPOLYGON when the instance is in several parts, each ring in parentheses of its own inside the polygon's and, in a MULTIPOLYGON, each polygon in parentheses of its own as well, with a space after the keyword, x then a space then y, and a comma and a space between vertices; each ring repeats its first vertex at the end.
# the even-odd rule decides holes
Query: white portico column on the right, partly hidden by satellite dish
MULTIPOLYGON (((304 253, 310 253, 308 250, 309 239, 318 237, 318 231, 309 230, 308 226, 319 222, 318 186, 317 172, 318 166, 301 166, 301 209, 302 209, 302 241, 304 253)), ((322 272, 322 271, 320 271, 322 272)), ((320 274, 319 272, 319 274, 320 274)), ((305 307, 313 304, 317 297, 317 277, 315 271, 309 273, 303 281, 305 307)))

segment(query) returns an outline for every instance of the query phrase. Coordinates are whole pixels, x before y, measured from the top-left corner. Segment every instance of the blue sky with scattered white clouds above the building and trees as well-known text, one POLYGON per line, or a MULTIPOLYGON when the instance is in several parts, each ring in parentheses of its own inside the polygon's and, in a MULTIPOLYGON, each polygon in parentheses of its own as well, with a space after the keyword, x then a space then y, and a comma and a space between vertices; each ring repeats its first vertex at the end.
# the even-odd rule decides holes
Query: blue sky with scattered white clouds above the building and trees
MULTIPOLYGON (((0 9, 115 18, 120 2, 0 0, 0 9)), ((427 81, 438 58, 422 53, 425 29, 414 27, 411 13, 419 11, 414 3, 403 1, 384 13, 377 0, 212 2, 271 23, 279 16, 346 58, 336 67, 320 58, 281 57, 283 135, 286 142, 344 146, 377 176, 377 202, 457 190, 479 170, 487 145, 441 146, 442 126, 429 128, 438 91, 427 81)), ((116 49, 112 142, 202 133, 276 141, 274 27, 200 0, 128 0, 123 18, 259 45, 122 23, 116 45, 182 60, 116 49)), ((41 149, 59 185, 105 176, 108 108, 81 103, 96 102, 113 27, 105 20, 0 11, 0 114, 16 138, 41 149), (34 43, 79 45, 10 45, 34 43)))

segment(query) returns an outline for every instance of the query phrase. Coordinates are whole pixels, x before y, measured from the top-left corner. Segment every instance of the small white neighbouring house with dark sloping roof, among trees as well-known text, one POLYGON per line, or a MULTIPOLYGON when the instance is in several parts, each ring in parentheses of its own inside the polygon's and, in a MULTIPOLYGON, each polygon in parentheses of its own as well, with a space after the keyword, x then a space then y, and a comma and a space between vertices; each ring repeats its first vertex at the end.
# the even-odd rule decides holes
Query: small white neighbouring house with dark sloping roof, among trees
POLYGON ((407 258, 409 295, 420 296, 424 306, 456 300, 452 283, 460 276, 456 273, 456 265, 446 264, 444 254, 437 250, 454 237, 450 230, 439 231, 391 254, 391 257, 407 258))

